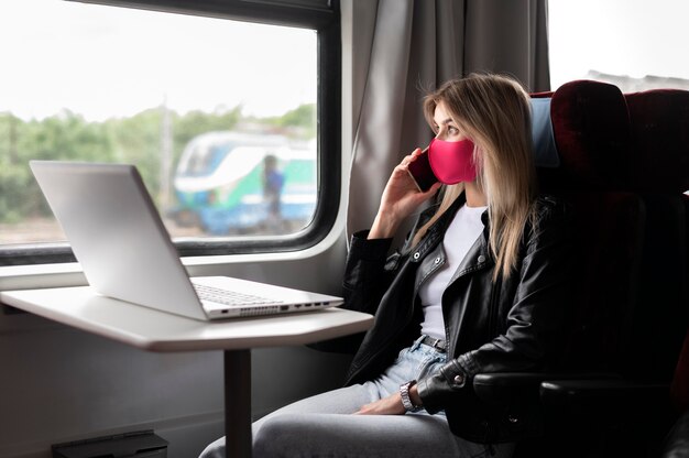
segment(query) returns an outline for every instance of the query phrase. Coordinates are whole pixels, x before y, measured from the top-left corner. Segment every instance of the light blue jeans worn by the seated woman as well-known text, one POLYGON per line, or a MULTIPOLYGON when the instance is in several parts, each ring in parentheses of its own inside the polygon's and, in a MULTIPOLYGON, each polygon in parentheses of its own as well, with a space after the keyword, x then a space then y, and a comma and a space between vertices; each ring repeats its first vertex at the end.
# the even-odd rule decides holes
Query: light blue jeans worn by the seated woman
MULTIPOLYGON (((455 436, 444 412, 350 415, 409 380, 439 370, 446 355, 420 344, 403 349, 376 380, 329 391, 280 408, 253 423, 253 456, 267 457, 510 457, 513 444, 485 446, 455 436)), ((223 458, 225 438, 200 458, 223 458)))

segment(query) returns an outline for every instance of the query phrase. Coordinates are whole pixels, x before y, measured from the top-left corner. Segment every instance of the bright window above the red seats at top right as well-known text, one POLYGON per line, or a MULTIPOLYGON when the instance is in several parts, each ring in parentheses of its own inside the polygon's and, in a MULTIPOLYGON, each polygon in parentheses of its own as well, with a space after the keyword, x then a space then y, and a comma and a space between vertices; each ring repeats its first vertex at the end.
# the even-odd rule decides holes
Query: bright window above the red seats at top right
POLYGON ((611 83, 623 92, 689 89, 689 3, 678 0, 549 0, 553 90, 573 79, 611 83))

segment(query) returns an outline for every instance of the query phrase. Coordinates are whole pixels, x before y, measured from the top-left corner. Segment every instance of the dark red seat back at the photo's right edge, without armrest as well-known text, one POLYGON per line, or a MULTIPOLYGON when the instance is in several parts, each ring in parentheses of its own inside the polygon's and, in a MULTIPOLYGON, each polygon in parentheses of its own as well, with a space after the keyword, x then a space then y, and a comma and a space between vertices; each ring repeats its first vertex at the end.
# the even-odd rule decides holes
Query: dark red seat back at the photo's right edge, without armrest
MULTIPOLYGON (((644 199, 646 227, 639 309, 633 331, 654 335, 631 348, 648 373, 668 382, 689 319, 689 91, 625 95, 633 148, 632 188, 644 199)), ((638 340, 638 339, 637 339, 638 340)))

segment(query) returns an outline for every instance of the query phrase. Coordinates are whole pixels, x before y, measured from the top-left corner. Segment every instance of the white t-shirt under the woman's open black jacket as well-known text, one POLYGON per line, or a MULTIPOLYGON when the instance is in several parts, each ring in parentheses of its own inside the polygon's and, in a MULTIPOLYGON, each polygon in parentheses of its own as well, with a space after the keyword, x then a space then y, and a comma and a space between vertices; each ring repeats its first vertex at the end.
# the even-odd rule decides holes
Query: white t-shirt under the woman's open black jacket
POLYGON ((445 265, 438 269, 422 284, 418 296, 424 307, 422 334, 436 339, 446 339, 442 319, 442 293, 450 283, 469 249, 483 232, 481 215, 488 207, 468 207, 463 205, 448 226, 442 239, 445 265))

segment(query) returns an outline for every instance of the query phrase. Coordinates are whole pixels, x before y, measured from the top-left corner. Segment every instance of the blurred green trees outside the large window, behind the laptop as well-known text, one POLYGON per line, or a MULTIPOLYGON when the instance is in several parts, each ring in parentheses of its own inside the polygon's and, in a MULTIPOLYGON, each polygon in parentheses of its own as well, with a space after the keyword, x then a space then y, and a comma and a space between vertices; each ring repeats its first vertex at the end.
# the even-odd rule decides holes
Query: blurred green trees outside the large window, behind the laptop
POLYGON ((155 197, 161 190, 164 144, 169 144, 172 179, 182 151, 194 137, 209 131, 242 130, 248 126, 251 130, 314 138, 316 106, 304 105, 281 117, 265 119, 243 117, 241 107, 184 116, 155 108, 103 122, 89 122, 67 110, 41 121, 0 113, 0 222, 18 223, 51 215, 29 168, 30 160, 132 163, 155 197))

